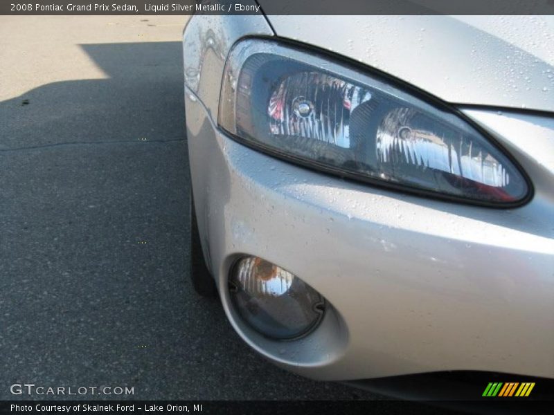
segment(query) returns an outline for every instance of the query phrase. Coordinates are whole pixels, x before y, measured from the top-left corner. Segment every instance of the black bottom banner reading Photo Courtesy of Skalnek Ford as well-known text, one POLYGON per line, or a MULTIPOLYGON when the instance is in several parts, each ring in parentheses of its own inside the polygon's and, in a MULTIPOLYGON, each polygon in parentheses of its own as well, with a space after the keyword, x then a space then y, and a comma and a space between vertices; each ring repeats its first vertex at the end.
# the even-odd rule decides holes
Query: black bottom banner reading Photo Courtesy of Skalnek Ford
POLYGON ((551 414, 552 403, 536 400, 12 400, 1 414, 551 414))

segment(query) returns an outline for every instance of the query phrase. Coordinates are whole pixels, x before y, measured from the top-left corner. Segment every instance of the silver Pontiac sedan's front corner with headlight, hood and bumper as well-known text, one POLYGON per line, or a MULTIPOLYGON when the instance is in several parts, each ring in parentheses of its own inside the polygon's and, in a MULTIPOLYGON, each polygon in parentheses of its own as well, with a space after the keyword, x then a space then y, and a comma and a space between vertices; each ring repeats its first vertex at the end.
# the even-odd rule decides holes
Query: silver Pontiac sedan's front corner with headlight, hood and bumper
POLYGON ((191 277, 244 342, 554 378, 553 17, 195 15, 183 47, 191 277))

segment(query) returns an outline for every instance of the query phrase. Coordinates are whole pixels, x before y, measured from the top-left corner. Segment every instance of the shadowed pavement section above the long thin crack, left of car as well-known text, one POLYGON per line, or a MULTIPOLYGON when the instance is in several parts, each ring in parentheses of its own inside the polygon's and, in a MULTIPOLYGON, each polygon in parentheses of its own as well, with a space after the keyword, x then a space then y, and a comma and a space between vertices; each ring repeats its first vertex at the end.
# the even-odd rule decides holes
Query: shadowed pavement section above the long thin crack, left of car
POLYGON ((81 47, 109 78, 55 82, 1 102, 0 149, 184 138, 179 42, 81 47))

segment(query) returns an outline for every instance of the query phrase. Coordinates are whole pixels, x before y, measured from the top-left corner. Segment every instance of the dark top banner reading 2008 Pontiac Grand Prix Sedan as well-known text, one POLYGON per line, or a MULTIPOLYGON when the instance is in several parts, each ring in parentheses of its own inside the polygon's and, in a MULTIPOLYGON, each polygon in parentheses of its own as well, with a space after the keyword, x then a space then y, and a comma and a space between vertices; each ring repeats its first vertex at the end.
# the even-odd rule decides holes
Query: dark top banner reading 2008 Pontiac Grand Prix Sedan
POLYGON ((2 0, 0 15, 554 15, 554 0, 2 0))

